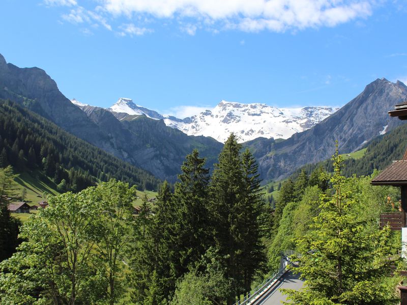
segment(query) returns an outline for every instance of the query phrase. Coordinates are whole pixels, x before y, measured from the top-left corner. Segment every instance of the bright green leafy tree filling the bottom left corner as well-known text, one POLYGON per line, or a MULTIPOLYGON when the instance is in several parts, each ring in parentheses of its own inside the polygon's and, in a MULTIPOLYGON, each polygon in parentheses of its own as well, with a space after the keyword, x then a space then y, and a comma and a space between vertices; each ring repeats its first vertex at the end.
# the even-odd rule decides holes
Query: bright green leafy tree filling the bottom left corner
POLYGON ((2 263, 0 301, 17 297, 4 279, 14 280, 12 285, 20 289, 16 303, 33 298, 41 304, 74 305, 104 299, 106 287, 97 280, 90 264, 95 254, 94 222, 100 216, 95 197, 84 191, 48 201, 49 206, 22 227, 21 235, 29 241, 2 263))

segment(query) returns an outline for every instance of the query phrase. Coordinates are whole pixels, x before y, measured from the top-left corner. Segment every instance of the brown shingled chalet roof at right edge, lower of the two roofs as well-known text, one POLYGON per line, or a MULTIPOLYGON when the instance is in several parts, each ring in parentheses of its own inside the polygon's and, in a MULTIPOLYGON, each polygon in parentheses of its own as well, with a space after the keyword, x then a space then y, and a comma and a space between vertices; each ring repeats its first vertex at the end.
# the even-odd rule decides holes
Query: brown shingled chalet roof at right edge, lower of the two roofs
POLYGON ((403 186, 407 185, 407 160, 393 161, 384 171, 374 177, 374 186, 403 186))

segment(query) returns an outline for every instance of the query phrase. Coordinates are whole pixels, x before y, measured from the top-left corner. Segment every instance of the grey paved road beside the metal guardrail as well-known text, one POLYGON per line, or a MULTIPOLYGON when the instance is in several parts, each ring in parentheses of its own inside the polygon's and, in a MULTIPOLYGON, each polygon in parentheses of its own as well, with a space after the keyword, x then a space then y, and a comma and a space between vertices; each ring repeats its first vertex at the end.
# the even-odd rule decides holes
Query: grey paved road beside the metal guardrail
POLYGON ((253 305, 278 305, 281 301, 286 300, 286 295, 280 292, 280 288, 299 290, 303 286, 303 281, 299 279, 299 275, 293 275, 291 271, 285 272, 284 275, 260 297, 253 305))

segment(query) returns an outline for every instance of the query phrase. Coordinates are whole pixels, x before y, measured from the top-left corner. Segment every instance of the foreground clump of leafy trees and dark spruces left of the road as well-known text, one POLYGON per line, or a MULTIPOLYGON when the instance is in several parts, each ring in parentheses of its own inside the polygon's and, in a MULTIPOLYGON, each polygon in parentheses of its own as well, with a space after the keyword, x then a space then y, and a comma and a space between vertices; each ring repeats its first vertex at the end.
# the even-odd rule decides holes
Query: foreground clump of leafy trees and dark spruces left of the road
POLYGON ((194 150, 175 191, 164 182, 138 215, 135 187, 115 179, 50 197, 0 263, 0 303, 234 303, 264 272, 270 229, 257 165, 241 148, 231 135, 212 176, 194 150))

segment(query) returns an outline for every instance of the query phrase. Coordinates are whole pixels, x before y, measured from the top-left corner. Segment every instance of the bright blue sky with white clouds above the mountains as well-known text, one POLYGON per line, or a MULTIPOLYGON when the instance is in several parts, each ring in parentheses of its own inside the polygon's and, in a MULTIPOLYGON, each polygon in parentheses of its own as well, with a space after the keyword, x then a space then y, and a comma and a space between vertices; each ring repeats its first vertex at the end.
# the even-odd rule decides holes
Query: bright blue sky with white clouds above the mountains
POLYGON ((394 0, 2 0, 0 53, 68 98, 120 97, 178 116, 220 100, 340 106, 407 82, 407 4, 394 0))

